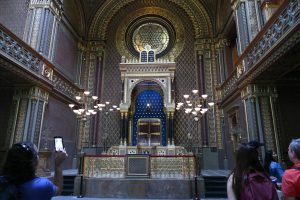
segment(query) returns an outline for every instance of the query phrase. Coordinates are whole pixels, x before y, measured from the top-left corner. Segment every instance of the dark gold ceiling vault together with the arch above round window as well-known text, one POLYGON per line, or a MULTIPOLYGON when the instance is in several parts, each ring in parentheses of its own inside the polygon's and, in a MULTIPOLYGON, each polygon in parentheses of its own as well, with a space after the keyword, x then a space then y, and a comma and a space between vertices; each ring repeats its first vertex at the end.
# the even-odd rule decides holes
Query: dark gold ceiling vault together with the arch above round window
POLYGON ((64 0, 64 15, 79 37, 105 40, 110 20, 124 7, 166 3, 173 3, 189 15, 198 38, 217 35, 232 13, 230 0, 64 0))

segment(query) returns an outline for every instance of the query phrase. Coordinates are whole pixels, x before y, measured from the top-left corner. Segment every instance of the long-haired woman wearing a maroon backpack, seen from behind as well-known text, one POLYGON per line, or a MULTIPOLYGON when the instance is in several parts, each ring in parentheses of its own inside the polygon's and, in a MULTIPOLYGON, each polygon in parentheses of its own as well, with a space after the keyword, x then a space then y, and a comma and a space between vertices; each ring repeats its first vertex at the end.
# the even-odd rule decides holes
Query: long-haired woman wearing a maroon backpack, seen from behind
POLYGON ((236 166, 227 180, 227 196, 229 200, 278 200, 275 186, 258 159, 258 151, 250 145, 241 144, 236 152, 236 166))

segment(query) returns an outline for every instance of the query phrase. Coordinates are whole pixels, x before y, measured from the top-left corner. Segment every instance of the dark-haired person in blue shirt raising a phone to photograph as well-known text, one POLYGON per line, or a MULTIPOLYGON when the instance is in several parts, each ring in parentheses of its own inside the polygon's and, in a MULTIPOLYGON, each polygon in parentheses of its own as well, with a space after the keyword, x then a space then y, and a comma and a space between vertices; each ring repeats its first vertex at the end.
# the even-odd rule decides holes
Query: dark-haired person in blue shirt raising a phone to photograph
POLYGON ((2 188, 0 199, 50 200, 54 195, 60 194, 63 186, 61 165, 66 157, 64 149, 54 153, 55 172, 52 183, 47 178, 35 175, 38 165, 36 146, 30 142, 14 144, 8 151, 1 176, 2 182, 7 182, 5 186, 8 191, 2 188))

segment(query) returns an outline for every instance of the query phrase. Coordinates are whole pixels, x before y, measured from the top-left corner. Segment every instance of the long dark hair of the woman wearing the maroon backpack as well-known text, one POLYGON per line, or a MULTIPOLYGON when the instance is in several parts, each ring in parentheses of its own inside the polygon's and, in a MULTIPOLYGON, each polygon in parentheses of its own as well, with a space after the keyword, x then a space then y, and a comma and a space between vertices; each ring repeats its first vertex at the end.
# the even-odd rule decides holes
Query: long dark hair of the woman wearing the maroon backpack
POLYGON ((236 152, 236 166, 231 173, 232 188, 238 200, 241 199, 241 190, 246 176, 255 171, 265 174, 264 168, 258 159, 257 150, 249 145, 240 145, 236 152))

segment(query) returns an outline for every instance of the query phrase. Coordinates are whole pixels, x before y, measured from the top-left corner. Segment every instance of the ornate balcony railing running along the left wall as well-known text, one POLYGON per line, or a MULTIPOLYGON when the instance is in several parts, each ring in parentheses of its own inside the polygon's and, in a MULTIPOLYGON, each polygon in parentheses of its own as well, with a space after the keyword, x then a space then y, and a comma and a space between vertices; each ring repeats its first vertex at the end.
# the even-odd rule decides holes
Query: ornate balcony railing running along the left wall
MULTIPOLYGON (((52 88, 49 92, 59 93, 74 99, 81 89, 67 79, 55 66, 0 24, 0 55, 15 63, 15 67, 26 72, 37 84, 52 88)), ((14 70, 12 70, 14 71, 14 70)))

